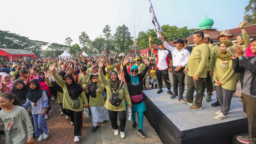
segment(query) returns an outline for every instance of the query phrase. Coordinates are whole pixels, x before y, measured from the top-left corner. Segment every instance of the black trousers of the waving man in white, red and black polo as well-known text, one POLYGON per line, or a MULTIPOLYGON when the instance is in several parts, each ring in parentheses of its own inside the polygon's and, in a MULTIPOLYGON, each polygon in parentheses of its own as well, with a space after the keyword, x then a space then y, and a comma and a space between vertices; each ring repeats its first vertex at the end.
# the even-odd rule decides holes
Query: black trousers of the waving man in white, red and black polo
POLYGON ((171 89, 171 83, 170 83, 170 79, 169 79, 169 71, 168 70, 158 70, 158 69, 155 69, 155 70, 156 70, 156 78, 157 78, 158 86, 160 88, 163 87, 163 83, 162 83, 162 77, 163 77, 166 87, 168 89, 171 89))

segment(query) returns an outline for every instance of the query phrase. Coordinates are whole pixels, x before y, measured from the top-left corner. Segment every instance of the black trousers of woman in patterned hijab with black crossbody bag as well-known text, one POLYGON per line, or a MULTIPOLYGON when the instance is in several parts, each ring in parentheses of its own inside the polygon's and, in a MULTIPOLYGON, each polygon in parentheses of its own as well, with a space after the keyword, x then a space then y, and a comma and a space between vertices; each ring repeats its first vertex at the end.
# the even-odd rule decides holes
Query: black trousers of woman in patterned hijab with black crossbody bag
POLYGON ((126 123, 126 110, 124 110, 124 111, 108 110, 108 113, 109 113, 109 118, 110 118, 112 128, 114 130, 118 130, 118 128, 119 128, 120 132, 124 132, 125 123, 126 123), (117 125, 117 115, 118 115, 119 121, 120 121, 119 127, 117 125))

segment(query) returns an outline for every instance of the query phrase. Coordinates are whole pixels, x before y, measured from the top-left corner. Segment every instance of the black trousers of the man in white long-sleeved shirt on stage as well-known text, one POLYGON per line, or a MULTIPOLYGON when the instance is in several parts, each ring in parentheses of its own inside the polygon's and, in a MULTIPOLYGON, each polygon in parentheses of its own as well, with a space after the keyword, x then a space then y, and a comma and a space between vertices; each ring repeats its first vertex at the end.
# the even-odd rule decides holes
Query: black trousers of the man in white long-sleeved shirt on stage
POLYGON ((172 80, 173 80, 173 92, 178 94, 178 86, 179 86, 179 94, 183 95, 184 93, 184 83, 185 73, 183 71, 175 72, 172 70, 172 80))

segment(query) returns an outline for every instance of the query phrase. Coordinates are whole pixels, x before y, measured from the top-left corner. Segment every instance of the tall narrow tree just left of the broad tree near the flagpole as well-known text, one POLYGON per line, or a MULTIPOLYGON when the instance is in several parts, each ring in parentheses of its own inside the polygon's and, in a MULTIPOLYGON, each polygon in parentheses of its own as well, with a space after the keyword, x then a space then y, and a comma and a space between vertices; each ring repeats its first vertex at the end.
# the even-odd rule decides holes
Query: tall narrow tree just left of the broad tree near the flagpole
POLYGON ((111 30, 110 30, 110 27, 108 25, 106 25, 103 29, 103 35, 104 35, 104 45, 105 45, 105 51, 106 51, 106 54, 107 56, 109 55, 109 51, 111 49, 113 49, 113 38, 112 38, 112 35, 111 35, 111 30))

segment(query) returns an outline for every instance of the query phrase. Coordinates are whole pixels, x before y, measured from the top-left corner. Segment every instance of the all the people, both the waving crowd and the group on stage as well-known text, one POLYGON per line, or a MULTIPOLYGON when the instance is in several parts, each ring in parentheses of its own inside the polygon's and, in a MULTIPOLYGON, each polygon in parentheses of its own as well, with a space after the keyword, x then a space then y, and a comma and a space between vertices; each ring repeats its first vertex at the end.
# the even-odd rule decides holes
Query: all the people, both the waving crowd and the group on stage
POLYGON ((227 118, 236 84, 240 80, 241 101, 246 112, 243 116, 248 117, 249 136, 238 136, 237 139, 255 143, 256 91, 253 86, 256 39, 250 42, 243 27, 245 23, 238 25, 241 34, 237 36, 236 43, 230 41, 234 34, 229 30, 220 33, 220 43, 215 46, 210 35, 196 31, 193 48, 188 46, 187 39, 178 39, 172 47, 161 35, 157 43, 159 49, 154 49, 150 36, 152 54, 148 56, 81 55, 77 58, 47 57, 32 61, 20 59, 12 63, 0 60, 0 106, 3 109, 0 111, 0 127, 4 125, 6 143, 25 143, 37 136, 37 141, 47 139, 49 130, 46 120, 53 111, 51 100, 60 105, 61 115, 66 115, 70 125, 74 125, 75 142, 81 135, 84 108, 88 108, 92 115, 92 132, 97 131, 99 123, 103 124, 110 118, 114 135, 120 132, 120 137, 124 138, 126 110, 129 107, 132 110, 132 128, 137 127, 137 112, 138 134, 146 137, 142 131, 143 113, 146 111, 142 90, 147 89, 147 78, 149 87, 159 87, 157 94, 163 92, 164 81, 170 98, 178 98, 180 102, 191 105, 190 110, 202 109, 205 89, 205 101, 211 102, 215 89, 217 102, 211 105, 220 106, 220 110, 215 112, 214 119, 217 120, 227 118), (185 89, 186 99, 183 98, 185 89), (194 91, 196 95, 193 95, 194 91), (117 124, 117 115, 120 125, 117 124))

